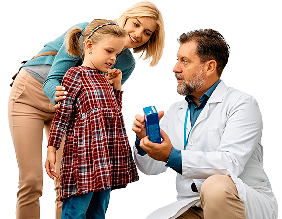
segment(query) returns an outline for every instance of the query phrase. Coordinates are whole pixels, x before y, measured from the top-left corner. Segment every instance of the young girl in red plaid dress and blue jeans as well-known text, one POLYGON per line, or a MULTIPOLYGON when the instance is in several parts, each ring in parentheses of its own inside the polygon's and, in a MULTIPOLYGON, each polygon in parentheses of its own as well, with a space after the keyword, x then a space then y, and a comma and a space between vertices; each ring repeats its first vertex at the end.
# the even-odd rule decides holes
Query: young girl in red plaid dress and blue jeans
POLYGON ((111 85, 103 73, 125 45, 126 31, 112 22, 95 19, 66 37, 67 52, 84 55, 84 61, 63 78, 68 98, 60 102, 48 139, 45 168, 54 179, 56 150, 66 131, 60 170, 62 219, 104 219, 111 189, 139 179, 121 113, 122 73, 115 71, 111 85))

